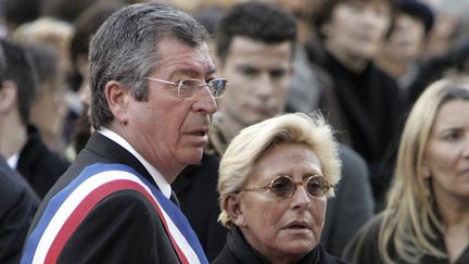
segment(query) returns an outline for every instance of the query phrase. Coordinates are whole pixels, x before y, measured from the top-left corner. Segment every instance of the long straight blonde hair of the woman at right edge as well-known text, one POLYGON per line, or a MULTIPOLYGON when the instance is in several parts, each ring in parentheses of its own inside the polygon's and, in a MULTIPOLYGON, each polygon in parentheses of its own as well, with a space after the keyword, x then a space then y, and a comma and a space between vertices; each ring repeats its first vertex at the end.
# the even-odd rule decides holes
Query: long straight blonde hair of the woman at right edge
POLYGON ((446 256, 433 242, 434 228, 441 231, 443 223, 422 165, 435 116, 444 103, 454 100, 469 100, 468 78, 446 78, 432 84, 407 117, 379 234, 379 251, 384 263, 418 263, 422 255, 446 256), (393 259, 392 248, 397 259, 393 259))

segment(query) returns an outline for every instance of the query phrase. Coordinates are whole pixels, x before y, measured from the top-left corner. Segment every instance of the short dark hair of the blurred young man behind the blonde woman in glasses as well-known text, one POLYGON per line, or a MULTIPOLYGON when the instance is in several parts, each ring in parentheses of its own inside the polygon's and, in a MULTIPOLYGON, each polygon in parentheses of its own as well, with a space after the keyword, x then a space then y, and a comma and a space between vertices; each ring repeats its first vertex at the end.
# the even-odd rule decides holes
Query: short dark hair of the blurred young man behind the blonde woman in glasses
POLYGON ((232 7, 216 29, 216 52, 221 63, 228 55, 236 36, 265 43, 296 42, 296 23, 290 14, 261 2, 245 2, 232 7))

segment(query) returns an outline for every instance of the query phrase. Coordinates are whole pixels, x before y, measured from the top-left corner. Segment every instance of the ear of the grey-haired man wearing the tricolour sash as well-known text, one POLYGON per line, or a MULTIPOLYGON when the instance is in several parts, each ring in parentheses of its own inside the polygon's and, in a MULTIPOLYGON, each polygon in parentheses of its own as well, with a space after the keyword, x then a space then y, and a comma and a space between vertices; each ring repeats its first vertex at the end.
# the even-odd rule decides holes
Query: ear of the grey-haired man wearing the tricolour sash
POLYGON ((129 121, 128 105, 130 100, 132 100, 130 88, 124 86, 119 81, 111 80, 104 87, 104 96, 114 115, 114 120, 127 124, 129 121))

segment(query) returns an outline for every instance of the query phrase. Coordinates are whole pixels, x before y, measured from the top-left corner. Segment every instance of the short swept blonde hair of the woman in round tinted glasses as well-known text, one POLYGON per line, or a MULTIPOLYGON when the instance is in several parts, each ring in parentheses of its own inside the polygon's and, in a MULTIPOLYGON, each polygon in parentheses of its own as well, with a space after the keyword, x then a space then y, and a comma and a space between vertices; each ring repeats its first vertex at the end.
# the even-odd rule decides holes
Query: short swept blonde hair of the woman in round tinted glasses
MULTIPOLYGON (((218 221, 226 227, 232 222, 224 209, 224 200, 242 189, 259 158, 274 146, 304 143, 319 158, 325 178, 331 184, 340 179, 338 143, 331 127, 319 113, 283 114, 244 128, 228 146, 219 166, 218 192, 221 213, 218 221)), ((333 188, 328 197, 333 196, 333 188)))

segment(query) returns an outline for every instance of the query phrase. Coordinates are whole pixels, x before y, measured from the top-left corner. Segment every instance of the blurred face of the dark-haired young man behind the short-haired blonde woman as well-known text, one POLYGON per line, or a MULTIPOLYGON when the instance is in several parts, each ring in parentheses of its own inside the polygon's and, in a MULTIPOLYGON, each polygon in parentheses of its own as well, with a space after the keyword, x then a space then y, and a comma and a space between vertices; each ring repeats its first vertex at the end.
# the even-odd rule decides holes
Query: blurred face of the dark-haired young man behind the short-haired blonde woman
POLYGON ((232 39, 220 76, 230 83, 220 100, 224 123, 244 128, 283 111, 292 73, 292 43, 232 39), (228 124, 230 123, 230 124, 228 124))

